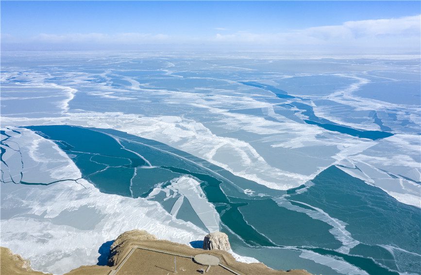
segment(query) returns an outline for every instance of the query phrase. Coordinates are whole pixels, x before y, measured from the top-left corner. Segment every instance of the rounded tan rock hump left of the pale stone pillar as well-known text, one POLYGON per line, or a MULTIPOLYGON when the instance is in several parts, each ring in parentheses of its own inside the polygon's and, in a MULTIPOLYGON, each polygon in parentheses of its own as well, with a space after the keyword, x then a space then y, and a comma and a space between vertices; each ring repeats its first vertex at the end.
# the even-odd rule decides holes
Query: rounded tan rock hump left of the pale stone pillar
POLYGON ((133 246, 142 241, 156 241, 156 237, 149 234, 145 230, 131 230, 120 234, 116 241, 110 247, 110 258, 108 259, 109 266, 118 265, 123 260, 125 252, 130 251, 129 246, 133 246))

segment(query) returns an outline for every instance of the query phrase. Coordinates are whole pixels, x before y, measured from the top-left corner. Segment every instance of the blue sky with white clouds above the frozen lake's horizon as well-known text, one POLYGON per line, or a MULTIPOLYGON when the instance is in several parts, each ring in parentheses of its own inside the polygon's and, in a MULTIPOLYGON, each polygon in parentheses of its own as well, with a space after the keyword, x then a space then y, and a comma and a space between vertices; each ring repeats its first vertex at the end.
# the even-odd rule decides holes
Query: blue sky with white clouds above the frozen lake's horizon
POLYGON ((420 53, 420 1, 1 1, 1 50, 420 53))

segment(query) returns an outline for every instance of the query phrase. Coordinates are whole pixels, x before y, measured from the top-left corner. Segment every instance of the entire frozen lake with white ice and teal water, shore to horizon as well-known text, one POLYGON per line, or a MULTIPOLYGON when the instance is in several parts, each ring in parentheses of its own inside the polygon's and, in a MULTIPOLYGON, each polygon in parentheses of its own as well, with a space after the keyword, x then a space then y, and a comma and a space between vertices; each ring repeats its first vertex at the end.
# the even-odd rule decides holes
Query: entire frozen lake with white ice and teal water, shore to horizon
POLYGON ((8 52, 1 245, 60 274, 221 230, 272 268, 420 274, 416 58, 8 52))

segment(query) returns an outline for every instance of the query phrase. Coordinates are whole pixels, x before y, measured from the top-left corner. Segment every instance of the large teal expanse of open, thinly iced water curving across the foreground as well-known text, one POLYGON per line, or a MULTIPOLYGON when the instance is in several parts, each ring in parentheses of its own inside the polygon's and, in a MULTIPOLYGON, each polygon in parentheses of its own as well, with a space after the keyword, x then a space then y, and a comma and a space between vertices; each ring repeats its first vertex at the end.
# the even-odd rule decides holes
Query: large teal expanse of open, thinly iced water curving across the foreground
MULTIPOLYGON (((414 261, 421 259, 414 256, 421 253, 420 212, 336 167, 321 172, 311 187, 276 191, 165 144, 124 132, 71 126, 28 128, 53 140, 72 156, 83 178, 104 193, 147 197, 160 182, 169 184, 181 175, 196 178, 207 200, 219 212, 221 230, 230 236, 233 249, 245 256, 257 255, 272 268, 286 266, 269 255, 290 257, 288 253, 313 251, 345 260, 369 274, 397 274, 396 255, 382 245, 408 251, 410 262, 400 260, 400 268, 406 272, 420 268, 414 261), (149 163, 154 168, 145 169, 149 163), (246 188, 259 189, 260 195, 245 194, 246 188), (305 192, 301 192, 303 188, 305 192), (346 229, 360 244, 351 248, 349 254, 337 252, 342 243, 330 232, 331 225, 282 207, 275 202, 277 198, 304 210, 323 209, 330 217, 348 224, 346 229)), ((156 196, 154 200, 169 211, 175 200, 163 198, 156 196)), ((206 229, 188 201, 183 203, 177 218, 206 229)), ((310 272, 336 273, 318 264, 300 264, 310 272)))

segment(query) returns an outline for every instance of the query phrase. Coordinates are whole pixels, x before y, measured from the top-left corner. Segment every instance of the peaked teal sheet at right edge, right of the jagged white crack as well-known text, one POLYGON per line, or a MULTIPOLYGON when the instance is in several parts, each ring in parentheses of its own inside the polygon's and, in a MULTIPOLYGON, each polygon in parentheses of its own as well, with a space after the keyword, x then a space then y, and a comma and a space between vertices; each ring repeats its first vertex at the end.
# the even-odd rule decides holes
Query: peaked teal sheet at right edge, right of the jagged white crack
POLYGON ((348 224, 353 237, 363 244, 351 249, 354 255, 370 255, 385 266, 395 269, 393 257, 379 245, 392 245, 406 253, 405 266, 411 272, 421 270, 421 213, 418 208, 398 202, 384 191, 330 167, 314 180, 314 186, 297 200, 321 208, 348 224), (323 199, 320 199, 323 198, 323 199))

